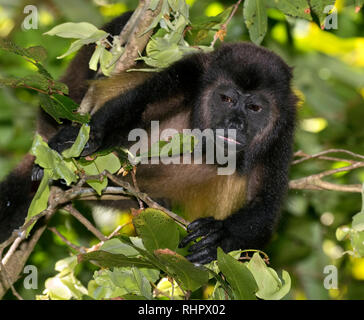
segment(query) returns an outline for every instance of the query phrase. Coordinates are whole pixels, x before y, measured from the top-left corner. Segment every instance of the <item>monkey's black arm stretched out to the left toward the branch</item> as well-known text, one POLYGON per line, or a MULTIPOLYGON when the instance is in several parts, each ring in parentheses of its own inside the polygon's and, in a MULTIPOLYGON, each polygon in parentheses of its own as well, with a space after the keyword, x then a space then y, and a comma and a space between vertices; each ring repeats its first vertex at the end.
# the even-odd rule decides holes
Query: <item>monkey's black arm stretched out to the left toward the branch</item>
MULTIPOLYGON (((148 104, 183 94, 186 103, 197 97, 203 67, 198 54, 182 59, 141 85, 113 98, 97 111, 90 122, 90 140, 82 155, 102 148, 115 147, 128 132, 140 124, 148 104)), ((193 103, 193 102, 192 102, 193 103)), ((79 127, 61 129, 50 141, 52 149, 61 152, 75 141, 79 127)))

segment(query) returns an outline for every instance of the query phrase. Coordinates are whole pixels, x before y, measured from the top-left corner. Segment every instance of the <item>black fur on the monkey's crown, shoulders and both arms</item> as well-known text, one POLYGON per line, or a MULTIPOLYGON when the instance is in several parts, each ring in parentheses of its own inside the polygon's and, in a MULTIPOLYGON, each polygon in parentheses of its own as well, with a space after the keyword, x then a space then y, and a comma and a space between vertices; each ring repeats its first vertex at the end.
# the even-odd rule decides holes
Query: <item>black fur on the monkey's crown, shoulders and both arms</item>
MULTIPOLYGON (((288 185, 296 114, 296 98, 290 88, 291 70, 278 56, 248 43, 228 44, 211 54, 189 56, 107 102, 91 120, 91 141, 84 150, 86 155, 117 146, 129 130, 140 125, 148 104, 177 94, 183 94, 185 103, 193 106, 193 128, 201 128, 205 89, 225 80, 242 92, 264 92, 270 96, 269 102, 277 106, 278 117, 269 135, 254 147, 248 141, 243 156, 238 157, 241 174, 250 177, 259 168, 258 176, 253 177, 260 181, 254 199, 225 220, 202 218, 189 225, 189 234, 180 246, 203 237, 190 247, 188 256, 190 261, 198 263, 216 258, 218 246, 225 251, 262 248, 273 232, 288 185)), ((77 128, 65 128, 50 145, 62 151, 67 148, 64 141, 75 139, 77 132, 77 128)))

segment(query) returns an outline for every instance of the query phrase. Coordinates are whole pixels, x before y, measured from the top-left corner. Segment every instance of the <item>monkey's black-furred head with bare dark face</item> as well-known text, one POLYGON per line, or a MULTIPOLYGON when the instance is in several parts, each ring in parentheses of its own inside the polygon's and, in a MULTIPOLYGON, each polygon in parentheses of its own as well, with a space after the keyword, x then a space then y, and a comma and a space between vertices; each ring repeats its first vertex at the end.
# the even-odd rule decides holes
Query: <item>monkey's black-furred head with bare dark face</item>
POLYGON ((294 123, 291 77, 291 69, 271 51, 248 43, 224 45, 208 62, 195 125, 213 129, 215 142, 224 141, 225 149, 235 145, 244 157, 266 152, 294 123))

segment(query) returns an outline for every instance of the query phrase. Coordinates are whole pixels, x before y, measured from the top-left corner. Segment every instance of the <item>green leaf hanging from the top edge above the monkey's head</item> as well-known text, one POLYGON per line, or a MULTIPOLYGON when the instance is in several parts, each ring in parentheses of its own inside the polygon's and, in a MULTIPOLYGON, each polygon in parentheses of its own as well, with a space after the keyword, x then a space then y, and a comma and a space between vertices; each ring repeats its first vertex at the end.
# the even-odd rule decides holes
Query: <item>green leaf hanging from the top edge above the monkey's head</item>
POLYGON ((267 33, 268 16, 263 0, 245 0, 244 20, 249 30, 250 39, 260 44, 267 33))

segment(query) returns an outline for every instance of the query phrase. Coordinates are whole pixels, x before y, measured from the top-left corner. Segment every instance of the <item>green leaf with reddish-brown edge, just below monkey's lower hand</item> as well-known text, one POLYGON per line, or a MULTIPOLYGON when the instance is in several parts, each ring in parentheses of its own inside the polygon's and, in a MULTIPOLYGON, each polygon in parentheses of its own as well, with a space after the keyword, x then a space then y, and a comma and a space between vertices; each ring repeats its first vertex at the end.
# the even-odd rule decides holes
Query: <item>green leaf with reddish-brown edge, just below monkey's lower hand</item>
POLYGON ((163 263, 163 269, 186 290, 197 290, 209 280, 209 274, 201 267, 195 266, 185 257, 169 250, 159 249, 155 256, 163 263))

